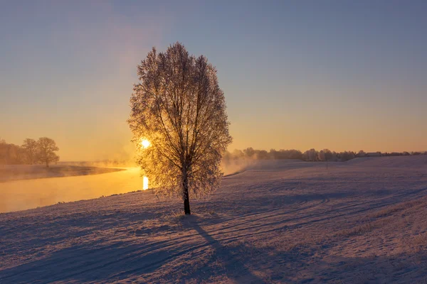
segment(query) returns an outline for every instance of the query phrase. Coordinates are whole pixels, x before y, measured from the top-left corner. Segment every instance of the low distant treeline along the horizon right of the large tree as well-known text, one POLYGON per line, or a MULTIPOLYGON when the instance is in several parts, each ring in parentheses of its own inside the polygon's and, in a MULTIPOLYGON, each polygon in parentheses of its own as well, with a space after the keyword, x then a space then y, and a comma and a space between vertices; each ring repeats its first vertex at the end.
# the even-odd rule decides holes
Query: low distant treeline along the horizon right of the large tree
POLYGON ((270 151, 255 150, 253 148, 246 148, 245 150, 235 150, 232 153, 226 152, 224 160, 237 160, 237 159, 255 159, 255 160, 285 160, 285 159, 297 159, 305 161, 333 161, 333 162, 345 162, 346 160, 352 160, 353 158, 362 157, 383 157, 383 156, 396 156, 396 155, 427 155, 427 152, 402 152, 402 153, 365 153, 359 151, 358 153, 353 151, 335 152, 329 149, 323 149, 317 151, 310 149, 302 153, 299 150, 279 150, 271 149, 270 151))

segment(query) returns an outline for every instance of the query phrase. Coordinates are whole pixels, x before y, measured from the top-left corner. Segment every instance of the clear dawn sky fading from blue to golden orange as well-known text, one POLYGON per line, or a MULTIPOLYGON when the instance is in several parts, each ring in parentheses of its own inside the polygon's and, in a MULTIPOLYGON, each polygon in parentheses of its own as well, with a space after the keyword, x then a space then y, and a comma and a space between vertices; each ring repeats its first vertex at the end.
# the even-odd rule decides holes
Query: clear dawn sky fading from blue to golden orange
POLYGON ((427 1, 0 0, 0 138, 132 155, 137 65, 179 41, 218 70, 233 143, 427 150, 427 1))

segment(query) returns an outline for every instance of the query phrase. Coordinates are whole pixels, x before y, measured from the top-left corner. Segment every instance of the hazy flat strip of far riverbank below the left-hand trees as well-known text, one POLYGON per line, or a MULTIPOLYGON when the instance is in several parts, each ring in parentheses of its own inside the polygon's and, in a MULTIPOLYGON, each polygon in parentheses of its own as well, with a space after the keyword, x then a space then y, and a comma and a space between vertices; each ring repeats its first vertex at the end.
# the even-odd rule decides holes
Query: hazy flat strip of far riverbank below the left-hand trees
POLYGON ((0 165, 0 182, 30 180, 36 178, 58 178, 74 175, 98 175, 112 173, 120 168, 97 168, 78 165, 0 165))

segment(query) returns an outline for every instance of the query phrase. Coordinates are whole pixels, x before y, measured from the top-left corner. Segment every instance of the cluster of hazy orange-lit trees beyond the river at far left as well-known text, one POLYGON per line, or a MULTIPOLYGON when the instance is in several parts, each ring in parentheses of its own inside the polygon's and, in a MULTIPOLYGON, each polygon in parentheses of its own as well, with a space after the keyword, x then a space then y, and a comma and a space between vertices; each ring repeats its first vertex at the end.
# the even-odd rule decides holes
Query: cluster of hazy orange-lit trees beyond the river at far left
POLYGON ((21 146, 0 139, 0 165, 43 163, 48 167, 50 163, 58 162, 59 156, 55 153, 58 150, 56 142, 48 137, 38 138, 37 141, 26 138, 21 146))

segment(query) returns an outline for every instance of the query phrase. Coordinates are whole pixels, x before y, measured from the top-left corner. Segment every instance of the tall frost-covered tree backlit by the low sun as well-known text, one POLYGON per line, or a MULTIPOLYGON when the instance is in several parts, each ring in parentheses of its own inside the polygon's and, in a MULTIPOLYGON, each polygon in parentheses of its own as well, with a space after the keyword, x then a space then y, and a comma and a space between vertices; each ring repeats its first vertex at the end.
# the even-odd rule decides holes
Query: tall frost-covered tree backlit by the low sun
POLYGON ((158 195, 181 196, 190 214, 190 194, 220 185, 221 155, 231 143, 216 69, 175 43, 164 53, 153 48, 137 75, 128 119, 137 163, 158 195))

